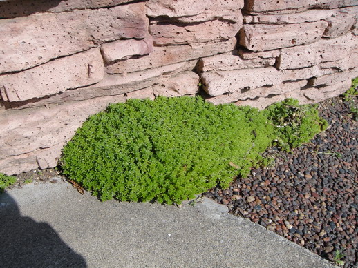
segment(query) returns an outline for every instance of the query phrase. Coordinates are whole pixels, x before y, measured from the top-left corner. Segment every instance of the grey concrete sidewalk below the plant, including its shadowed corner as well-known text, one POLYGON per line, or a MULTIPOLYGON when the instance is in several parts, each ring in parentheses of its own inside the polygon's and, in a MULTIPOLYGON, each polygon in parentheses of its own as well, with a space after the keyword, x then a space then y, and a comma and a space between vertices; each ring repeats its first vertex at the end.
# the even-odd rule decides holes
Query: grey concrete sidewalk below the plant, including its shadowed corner
POLYGON ((0 195, 0 267, 334 267, 226 207, 101 203, 68 183, 0 195))

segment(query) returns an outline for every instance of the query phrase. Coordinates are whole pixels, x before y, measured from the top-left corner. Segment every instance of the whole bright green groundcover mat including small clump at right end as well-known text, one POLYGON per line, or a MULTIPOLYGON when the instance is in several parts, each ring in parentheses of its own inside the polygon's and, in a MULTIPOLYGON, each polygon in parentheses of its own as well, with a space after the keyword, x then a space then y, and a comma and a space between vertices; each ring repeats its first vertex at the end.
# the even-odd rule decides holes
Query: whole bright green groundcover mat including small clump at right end
POLYGON ((212 105, 200 97, 111 104, 64 147, 62 170, 101 200, 180 204, 247 176, 273 141, 287 149, 324 125, 313 107, 301 111, 292 100, 273 107, 212 105), (291 115, 290 123, 277 127, 292 107, 301 111, 299 120, 291 115))

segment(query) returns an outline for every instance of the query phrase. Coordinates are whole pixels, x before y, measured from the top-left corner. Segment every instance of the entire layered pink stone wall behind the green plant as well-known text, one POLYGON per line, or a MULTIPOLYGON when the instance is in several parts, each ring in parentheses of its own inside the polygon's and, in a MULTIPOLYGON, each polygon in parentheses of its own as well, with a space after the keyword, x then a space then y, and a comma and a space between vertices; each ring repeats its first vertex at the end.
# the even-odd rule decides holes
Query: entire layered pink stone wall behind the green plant
POLYGON ((55 167, 129 98, 337 96, 358 76, 357 17, 357 0, 0 1, 0 172, 55 167))

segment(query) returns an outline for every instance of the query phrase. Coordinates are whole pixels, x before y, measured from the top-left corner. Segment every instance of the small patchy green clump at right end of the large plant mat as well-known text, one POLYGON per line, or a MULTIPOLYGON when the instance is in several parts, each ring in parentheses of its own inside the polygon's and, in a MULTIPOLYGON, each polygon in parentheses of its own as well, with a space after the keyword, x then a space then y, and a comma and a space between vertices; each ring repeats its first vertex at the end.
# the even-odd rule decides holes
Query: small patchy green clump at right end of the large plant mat
POLYGON ((294 99, 274 103, 263 112, 275 125, 274 145, 285 151, 308 143, 328 127, 327 121, 319 117, 316 105, 299 105, 294 99))

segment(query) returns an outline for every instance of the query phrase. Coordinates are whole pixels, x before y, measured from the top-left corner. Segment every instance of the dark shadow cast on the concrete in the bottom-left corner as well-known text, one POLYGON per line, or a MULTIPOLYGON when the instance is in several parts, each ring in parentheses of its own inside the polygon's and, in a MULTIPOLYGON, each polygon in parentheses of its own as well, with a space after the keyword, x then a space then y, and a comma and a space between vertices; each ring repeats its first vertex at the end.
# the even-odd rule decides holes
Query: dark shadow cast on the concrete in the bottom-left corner
POLYGON ((87 267, 47 223, 21 216, 15 200, 0 194, 0 267, 87 267))

